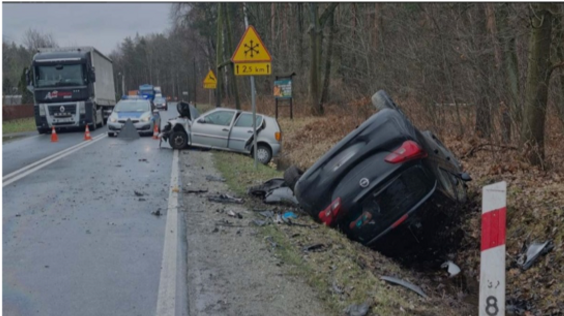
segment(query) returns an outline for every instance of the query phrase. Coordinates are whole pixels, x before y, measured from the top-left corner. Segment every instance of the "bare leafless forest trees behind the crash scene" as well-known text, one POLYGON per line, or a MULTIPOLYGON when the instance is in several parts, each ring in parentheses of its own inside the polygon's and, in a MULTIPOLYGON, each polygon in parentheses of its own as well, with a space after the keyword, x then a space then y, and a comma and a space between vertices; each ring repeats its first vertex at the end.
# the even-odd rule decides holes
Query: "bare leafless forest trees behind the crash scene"
MULTIPOLYGON (((384 89, 439 128, 455 109, 457 133, 513 142, 537 165, 547 116, 562 130, 564 5, 551 3, 172 3, 167 32, 125 38, 109 54, 116 94, 125 74, 126 90, 150 82, 207 103, 201 82, 213 69, 216 105, 248 103, 249 79, 230 62, 245 8, 273 60, 272 75, 255 77, 259 97, 292 72, 296 110, 314 115, 384 89), (473 126, 462 124, 468 108, 473 126)), ((46 45, 53 36, 31 29, 21 46, 2 43, 3 94, 22 92, 31 52, 46 45)))

